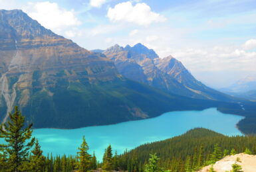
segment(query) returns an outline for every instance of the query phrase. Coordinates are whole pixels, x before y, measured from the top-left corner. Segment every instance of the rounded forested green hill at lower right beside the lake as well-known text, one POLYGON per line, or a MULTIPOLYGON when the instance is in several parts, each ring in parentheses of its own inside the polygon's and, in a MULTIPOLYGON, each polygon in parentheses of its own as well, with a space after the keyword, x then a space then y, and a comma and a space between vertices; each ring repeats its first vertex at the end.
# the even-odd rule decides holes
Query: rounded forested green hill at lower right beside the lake
POLYGON ((197 171, 209 165, 207 161, 211 159, 211 153, 216 144, 218 144, 221 157, 224 156, 224 150, 227 150, 227 155, 232 149, 241 153, 245 151, 245 148, 249 148, 252 153, 256 153, 255 136, 224 136, 205 128, 195 128, 181 136, 144 144, 126 151, 120 155, 120 164, 124 170, 134 168, 134 166, 136 168, 136 165, 143 169, 143 165, 148 163, 150 153, 156 153, 160 157, 158 165, 164 169, 185 172, 189 164, 190 171, 197 171))

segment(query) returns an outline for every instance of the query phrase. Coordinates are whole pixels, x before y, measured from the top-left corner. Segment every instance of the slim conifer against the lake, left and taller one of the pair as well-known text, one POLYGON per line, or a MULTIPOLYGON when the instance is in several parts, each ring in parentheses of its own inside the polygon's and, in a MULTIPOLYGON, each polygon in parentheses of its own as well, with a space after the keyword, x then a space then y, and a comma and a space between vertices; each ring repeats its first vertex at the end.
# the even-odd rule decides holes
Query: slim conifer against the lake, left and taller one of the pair
POLYGON ((82 138, 82 144, 80 148, 78 148, 78 171, 79 172, 86 172, 90 170, 90 154, 88 153, 89 147, 88 144, 85 141, 85 138, 83 136, 82 138))

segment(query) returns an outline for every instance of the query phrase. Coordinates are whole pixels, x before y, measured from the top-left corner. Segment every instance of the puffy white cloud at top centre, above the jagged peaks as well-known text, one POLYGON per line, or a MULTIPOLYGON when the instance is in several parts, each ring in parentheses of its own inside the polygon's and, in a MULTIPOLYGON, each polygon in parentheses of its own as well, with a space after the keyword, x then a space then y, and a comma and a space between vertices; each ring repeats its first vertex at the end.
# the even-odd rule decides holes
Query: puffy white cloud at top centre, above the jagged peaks
POLYGON ((109 8, 107 17, 112 22, 126 21, 144 26, 152 22, 166 21, 164 16, 154 13, 146 3, 137 3, 133 6, 130 1, 109 8))

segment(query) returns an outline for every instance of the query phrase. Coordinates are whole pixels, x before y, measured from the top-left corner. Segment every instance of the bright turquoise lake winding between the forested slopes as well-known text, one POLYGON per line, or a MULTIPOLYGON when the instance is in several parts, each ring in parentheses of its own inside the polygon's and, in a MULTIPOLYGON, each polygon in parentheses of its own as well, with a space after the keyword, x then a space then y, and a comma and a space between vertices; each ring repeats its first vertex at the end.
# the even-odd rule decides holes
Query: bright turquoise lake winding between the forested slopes
POLYGON ((39 139, 44 154, 75 155, 85 136, 90 153, 95 151, 101 161, 104 149, 111 144, 113 150, 136 148, 141 144, 164 140, 203 127, 228 136, 242 135, 235 127, 242 116, 223 114, 216 108, 202 111, 167 112, 156 118, 122 122, 108 126, 92 126, 73 130, 37 129, 33 135, 39 139))

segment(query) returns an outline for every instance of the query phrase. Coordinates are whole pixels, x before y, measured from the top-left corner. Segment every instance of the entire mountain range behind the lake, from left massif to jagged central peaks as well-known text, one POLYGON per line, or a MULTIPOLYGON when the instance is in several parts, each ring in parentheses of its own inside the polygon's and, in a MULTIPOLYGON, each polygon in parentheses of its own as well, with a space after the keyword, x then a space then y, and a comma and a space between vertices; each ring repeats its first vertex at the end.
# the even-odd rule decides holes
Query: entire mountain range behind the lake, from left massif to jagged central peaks
MULTIPOLYGON (((0 10, 0 54, 3 122, 15 105, 35 128, 114 124, 209 107, 255 112, 254 104, 243 103, 243 110, 233 97, 206 87, 172 57, 160 59, 142 44, 91 52, 21 10, 0 10)), ((247 120, 239 127, 256 131, 247 120)))

